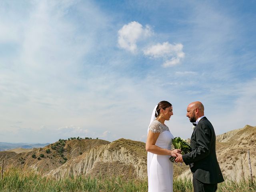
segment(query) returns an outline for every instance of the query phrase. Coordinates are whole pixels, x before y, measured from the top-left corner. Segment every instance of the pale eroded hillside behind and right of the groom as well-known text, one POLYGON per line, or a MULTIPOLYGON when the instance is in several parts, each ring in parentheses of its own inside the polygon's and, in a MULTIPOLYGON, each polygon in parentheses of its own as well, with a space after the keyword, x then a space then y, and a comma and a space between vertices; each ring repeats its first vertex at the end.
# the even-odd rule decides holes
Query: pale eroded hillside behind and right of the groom
MULTIPOLYGON (((252 174, 256 174, 256 126, 249 125, 244 128, 227 132, 216 136, 216 154, 222 174, 226 180, 239 181, 249 178, 248 153, 250 150, 250 161, 252 174)), ((186 170, 180 178, 192 178, 190 170, 186 170)))

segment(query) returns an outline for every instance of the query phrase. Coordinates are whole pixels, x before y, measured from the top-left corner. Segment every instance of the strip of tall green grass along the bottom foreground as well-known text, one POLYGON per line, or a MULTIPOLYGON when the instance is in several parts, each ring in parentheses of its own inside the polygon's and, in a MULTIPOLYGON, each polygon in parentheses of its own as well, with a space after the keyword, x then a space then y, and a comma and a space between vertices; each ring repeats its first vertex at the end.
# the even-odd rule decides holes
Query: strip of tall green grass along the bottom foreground
MULTIPOLYGON (((0 180, 0 192, 147 192, 148 182, 116 178, 64 178, 55 180, 30 170, 12 168, 0 180)), ((174 192, 193 192, 190 180, 174 180, 174 192)), ((256 182, 242 180, 218 184, 218 192, 255 192, 256 182)))

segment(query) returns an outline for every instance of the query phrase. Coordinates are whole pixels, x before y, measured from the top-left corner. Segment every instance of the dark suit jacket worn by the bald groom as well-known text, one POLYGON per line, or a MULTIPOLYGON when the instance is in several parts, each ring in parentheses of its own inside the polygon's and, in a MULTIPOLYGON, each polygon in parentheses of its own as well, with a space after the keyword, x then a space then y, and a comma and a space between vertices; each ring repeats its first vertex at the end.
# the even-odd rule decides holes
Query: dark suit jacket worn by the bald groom
POLYGON ((202 183, 216 184, 223 182, 223 176, 216 157, 216 136, 211 122, 203 117, 190 140, 192 152, 182 155, 189 164, 193 177, 202 183))

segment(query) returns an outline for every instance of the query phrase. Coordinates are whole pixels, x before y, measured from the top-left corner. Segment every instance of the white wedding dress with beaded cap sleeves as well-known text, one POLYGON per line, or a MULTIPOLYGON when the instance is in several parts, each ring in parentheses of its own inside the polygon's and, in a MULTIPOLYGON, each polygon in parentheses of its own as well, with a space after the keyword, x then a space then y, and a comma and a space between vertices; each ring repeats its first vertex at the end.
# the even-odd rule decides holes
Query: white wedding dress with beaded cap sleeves
MULTIPOLYGON (((156 140, 156 146, 171 150, 174 136, 169 128, 154 120, 149 130, 160 133, 156 140)), ((148 192, 172 192, 173 164, 168 155, 157 155, 148 152, 148 192)))

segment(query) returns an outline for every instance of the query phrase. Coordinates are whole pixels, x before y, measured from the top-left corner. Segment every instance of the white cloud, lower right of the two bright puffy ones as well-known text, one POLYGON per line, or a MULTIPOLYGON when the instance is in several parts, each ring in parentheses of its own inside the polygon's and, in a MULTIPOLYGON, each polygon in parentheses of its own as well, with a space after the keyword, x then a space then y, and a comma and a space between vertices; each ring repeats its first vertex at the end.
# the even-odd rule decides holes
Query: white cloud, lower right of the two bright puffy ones
POLYGON ((183 45, 180 43, 170 44, 169 42, 164 42, 163 44, 158 43, 150 46, 144 50, 144 54, 152 58, 163 58, 165 60, 163 66, 169 67, 179 64, 181 59, 185 57, 182 49, 183 45))

